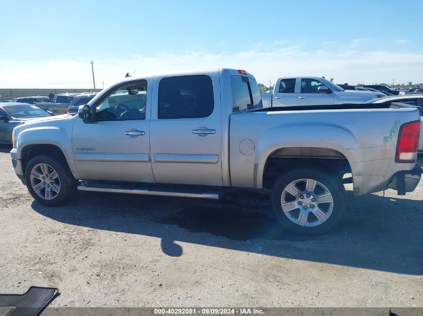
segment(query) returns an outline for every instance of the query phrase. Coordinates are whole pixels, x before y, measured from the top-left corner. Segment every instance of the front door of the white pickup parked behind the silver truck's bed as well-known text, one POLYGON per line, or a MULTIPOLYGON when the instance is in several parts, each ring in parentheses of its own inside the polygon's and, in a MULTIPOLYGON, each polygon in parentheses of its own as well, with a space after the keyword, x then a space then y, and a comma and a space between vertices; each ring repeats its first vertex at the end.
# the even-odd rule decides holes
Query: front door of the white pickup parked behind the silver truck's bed
POLYGON ((333 91, 332 93, 319 93, 319 87, 326 87, 326 85, 318 79, 301 78, 299 93, 297 94, 297 105, 333 104, 333 91))

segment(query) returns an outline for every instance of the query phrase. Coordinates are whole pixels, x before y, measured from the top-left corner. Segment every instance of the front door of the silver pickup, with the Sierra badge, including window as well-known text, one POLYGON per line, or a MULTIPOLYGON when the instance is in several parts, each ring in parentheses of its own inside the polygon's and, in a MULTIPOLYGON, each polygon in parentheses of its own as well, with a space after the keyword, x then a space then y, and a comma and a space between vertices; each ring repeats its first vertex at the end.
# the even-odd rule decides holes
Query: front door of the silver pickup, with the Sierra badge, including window
POLYGON ((75 118, 72 147, 83 179, 154 182, 150 95, 150 80, 125 82, 92 105, 92 123, 75 118))

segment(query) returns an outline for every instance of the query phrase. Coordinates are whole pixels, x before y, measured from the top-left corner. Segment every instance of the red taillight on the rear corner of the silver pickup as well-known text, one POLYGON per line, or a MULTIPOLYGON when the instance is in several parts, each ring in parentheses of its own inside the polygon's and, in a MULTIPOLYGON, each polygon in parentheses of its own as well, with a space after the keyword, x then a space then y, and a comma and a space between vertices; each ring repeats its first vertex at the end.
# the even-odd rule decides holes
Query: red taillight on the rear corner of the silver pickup
POLYGON ((412 163, 417 158, 420 121, 402 124, 396 142, 395 162, 412 163))

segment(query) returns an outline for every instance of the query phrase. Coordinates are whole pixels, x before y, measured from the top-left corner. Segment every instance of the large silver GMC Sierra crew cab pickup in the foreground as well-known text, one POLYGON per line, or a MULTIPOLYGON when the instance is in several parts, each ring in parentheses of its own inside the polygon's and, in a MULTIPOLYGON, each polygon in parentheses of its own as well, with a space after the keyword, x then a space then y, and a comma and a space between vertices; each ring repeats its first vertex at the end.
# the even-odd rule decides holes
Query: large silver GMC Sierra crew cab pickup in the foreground
POLYGON ((16 127, 11 155, 44 205, 77 190, 218 199, 243 188, 270 193, 285 229, 321 234, 342 217, 343 183, 356 196, 415 189, 419 126, 417 109, 392 104, 262 108, 251 74, 219 69, 127 78, 77 115, 16 127))

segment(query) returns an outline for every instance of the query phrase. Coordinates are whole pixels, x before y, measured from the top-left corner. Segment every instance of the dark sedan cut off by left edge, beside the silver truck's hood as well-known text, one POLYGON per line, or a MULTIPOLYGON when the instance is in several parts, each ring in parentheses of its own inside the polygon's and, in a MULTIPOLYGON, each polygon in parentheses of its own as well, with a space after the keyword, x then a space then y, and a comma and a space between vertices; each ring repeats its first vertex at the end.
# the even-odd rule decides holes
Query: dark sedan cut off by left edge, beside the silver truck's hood
POLYGON ((0 103, 0 143, 12 145, 12 131, 21 124, 52 114, 28 103, 0 103))

